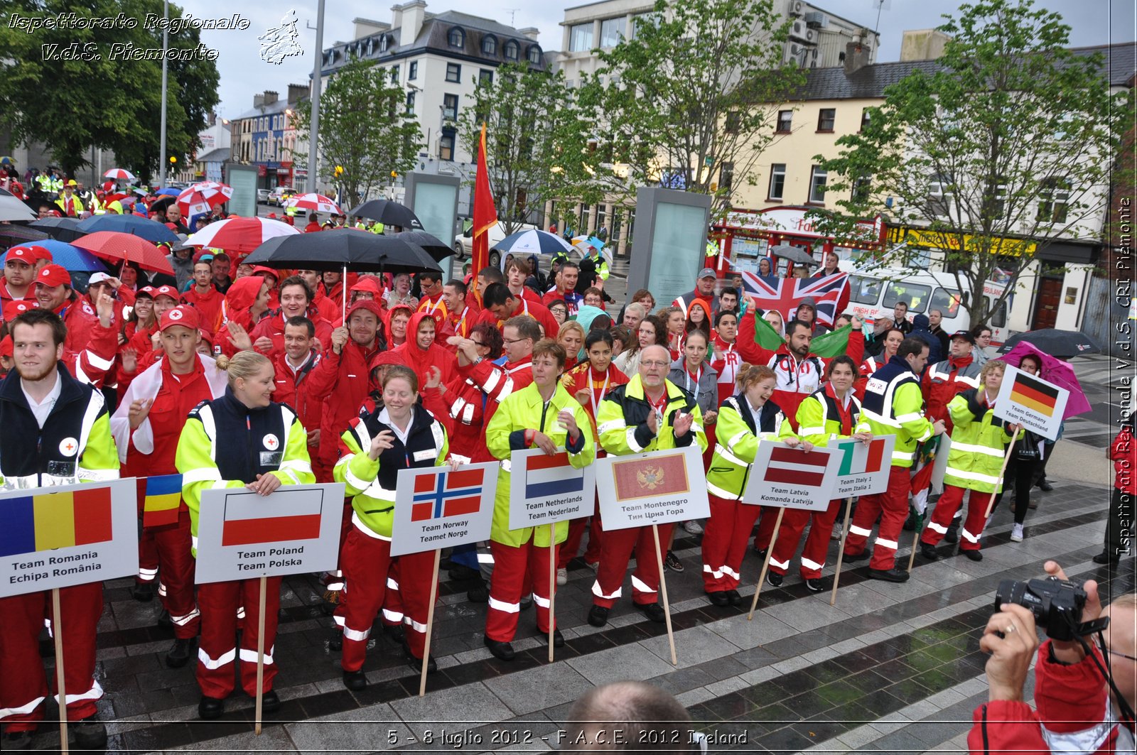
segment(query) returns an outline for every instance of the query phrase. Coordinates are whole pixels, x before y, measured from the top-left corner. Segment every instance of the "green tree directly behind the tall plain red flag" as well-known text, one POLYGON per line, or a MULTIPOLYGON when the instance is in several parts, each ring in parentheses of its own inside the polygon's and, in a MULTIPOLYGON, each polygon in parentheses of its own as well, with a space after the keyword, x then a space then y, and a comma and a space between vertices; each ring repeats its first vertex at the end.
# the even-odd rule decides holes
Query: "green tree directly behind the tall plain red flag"
POLYGON ((564 73, 507 64, 479 76, 474 105, 458 115, 459 139, 478 160, 482 123, 493 204, 513 233, 546 200, 587 191, 584 124, 564 73))

